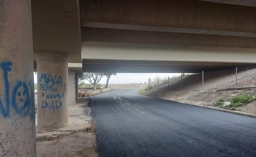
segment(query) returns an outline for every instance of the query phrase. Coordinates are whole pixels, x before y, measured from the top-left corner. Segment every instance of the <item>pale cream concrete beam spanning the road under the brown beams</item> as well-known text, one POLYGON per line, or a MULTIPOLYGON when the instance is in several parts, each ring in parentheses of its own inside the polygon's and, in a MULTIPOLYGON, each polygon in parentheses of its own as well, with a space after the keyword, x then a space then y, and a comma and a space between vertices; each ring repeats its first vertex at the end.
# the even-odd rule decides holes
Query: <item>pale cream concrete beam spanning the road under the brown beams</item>
POLYGON ((256 49, 169 48, 83 44, 83 59, 256 63, 256 49), (242 54, 242 57, 241 57, 242 54))

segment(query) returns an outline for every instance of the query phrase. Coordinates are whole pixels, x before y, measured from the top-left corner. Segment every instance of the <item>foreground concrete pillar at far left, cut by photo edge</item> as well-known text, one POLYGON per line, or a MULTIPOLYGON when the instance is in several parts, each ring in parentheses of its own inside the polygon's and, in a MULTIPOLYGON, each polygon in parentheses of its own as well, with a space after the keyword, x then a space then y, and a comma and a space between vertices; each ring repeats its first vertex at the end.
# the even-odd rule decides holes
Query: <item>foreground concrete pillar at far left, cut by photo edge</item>
POLYGON ((0 157, 35 157, 31 2, 0 3, 0 157))

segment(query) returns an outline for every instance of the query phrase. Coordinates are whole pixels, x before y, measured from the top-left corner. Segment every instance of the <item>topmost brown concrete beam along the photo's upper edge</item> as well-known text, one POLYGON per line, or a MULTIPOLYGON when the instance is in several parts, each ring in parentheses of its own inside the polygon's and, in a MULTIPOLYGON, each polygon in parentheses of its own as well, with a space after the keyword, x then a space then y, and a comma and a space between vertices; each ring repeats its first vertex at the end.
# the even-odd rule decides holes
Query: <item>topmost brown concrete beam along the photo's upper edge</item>
POLYGON ((252 16, 256 7, 198 0, 86 0, 80 2, 80 8, 82 25, 99 22, 180 28, 184 33, 189 29, 221 31, 222 35, 256 33, 256 19, 252 16))

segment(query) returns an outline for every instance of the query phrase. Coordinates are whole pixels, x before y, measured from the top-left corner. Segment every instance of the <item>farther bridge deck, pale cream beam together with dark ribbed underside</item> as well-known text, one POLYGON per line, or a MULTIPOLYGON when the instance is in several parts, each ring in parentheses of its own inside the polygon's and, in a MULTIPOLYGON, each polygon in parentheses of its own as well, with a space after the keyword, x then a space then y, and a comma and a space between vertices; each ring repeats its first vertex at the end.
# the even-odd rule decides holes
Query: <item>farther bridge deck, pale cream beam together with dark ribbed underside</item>
POLYGON ((83 44, 83 72, 198 73, 256 66, 256 49, 107 44, 83 44))

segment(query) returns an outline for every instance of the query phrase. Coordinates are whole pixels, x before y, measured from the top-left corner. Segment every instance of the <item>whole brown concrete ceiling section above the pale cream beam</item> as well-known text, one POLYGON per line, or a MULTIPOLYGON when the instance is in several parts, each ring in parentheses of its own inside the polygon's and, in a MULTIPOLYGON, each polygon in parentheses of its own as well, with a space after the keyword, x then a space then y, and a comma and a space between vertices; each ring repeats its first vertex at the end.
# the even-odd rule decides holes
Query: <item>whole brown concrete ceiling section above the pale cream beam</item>
POLYGON ((80 8, 85 42, 256 47, 256 7, 198 0, 81 0, 80 8))

